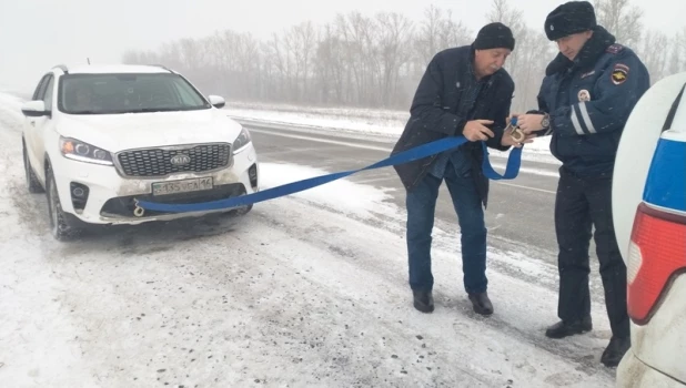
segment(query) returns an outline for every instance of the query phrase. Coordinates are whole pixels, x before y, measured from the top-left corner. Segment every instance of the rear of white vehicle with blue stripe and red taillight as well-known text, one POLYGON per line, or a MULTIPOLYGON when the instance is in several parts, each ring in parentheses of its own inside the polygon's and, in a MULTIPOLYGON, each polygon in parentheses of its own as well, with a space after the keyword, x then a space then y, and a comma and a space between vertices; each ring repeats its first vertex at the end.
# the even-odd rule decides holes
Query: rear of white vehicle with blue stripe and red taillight
POLYGON ((617 387, 686 387, 685 84, 683 72, 653 85, 617 152, 613 214, 632 319, 617 387))

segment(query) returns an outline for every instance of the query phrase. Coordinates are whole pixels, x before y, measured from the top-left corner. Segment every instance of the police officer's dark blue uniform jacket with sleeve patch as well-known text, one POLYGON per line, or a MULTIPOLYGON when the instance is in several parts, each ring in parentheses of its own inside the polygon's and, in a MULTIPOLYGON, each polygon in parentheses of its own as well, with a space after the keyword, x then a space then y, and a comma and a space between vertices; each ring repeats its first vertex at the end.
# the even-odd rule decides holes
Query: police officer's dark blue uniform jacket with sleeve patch
POLYGON ((551 152, 578 176, 611 174, 624 125, 650 86, 646 67, 602 27, 574 61, 547 67, 538 109, 549 113, 551 152))

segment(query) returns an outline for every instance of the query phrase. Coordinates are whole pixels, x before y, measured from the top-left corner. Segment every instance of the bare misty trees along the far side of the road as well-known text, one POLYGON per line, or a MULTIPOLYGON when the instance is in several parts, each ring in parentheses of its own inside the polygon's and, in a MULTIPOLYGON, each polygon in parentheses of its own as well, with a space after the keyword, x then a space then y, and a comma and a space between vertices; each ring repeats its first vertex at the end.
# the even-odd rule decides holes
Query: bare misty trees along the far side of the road
MULTIPOLYGON (((630 0, 594 0, 598 23, 635 50, 655 83, 686 70, 686 27, 674 37, 646 29, 630 0)), ((536 106, 536 94, 556 45, 541 29, 525 25, 508 0, 492 0, 485 22, 501 21, 515 35, 505 63, 515 83, 513 111, 536 106)), ((230 101, 407 110, 432 57, 470 44, 477 31, 435 6, 420 21, 397 12, 337 14, 322 25, 305 21, 269 39, 216 31, 184 38, 157 50, 128 50, 122 62, 163 64, 203 92, 230 101)))

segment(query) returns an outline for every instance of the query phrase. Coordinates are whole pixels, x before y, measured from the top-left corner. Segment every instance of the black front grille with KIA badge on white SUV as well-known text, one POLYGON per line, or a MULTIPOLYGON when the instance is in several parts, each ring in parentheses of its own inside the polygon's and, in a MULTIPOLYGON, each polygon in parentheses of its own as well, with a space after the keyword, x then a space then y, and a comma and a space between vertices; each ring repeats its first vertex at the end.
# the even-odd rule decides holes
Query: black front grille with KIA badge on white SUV
POLYGON ((231 144, 202 144, 173 149, 144 149, 123 151, 118 154, 119 164, 127 176, 164 176, 174 173, 218 170, 226 167, 231 157, 231 144), (176 155, 186 155, 186 164, 172 163, 176 155))

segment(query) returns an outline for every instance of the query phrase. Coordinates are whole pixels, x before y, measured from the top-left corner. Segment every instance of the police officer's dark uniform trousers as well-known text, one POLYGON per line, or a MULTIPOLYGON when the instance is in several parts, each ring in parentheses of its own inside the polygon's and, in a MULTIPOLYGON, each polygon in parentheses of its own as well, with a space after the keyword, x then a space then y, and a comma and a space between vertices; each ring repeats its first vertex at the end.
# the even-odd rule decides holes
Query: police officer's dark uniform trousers
POLYGON ((629 336, 626 309, 626 266, 612 216, 612 176, 582 177, 559 169, 555 198, 555 232, 559 246, 558 316, 575 321, 591 315, 588 286, 592 226, 605 289, 605 306, 614 336, 629 336))

